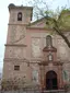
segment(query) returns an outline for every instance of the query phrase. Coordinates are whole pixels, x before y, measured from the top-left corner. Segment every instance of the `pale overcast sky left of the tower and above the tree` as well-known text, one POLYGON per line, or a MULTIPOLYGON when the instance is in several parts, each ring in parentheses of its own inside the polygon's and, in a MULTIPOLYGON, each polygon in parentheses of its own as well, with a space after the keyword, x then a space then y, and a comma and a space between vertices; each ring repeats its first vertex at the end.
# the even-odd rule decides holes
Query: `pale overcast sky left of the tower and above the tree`
MULTIPOLYGON (((4 44, 7 43, 8 23, 9 23, 9 10, 8 5, 14 3, 15 5, 30 5, 30 1, 34 0, 1 0, 0 1, 0 72, 3 68, 4 58, 4 44)), ((70 0, 45 0, 50 9, 56 10, 58 7, 70 8, 70 0)))

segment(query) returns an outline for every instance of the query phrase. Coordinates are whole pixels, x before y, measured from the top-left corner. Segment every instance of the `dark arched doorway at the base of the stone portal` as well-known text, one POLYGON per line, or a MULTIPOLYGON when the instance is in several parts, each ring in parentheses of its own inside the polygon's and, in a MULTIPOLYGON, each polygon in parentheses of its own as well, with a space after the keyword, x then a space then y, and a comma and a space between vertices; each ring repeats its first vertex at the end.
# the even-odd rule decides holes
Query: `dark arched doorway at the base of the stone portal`
POLYGON ((46 73, 46 89, 47 90, 57 90, 57 73, 55 71, 48 71, 46 73))

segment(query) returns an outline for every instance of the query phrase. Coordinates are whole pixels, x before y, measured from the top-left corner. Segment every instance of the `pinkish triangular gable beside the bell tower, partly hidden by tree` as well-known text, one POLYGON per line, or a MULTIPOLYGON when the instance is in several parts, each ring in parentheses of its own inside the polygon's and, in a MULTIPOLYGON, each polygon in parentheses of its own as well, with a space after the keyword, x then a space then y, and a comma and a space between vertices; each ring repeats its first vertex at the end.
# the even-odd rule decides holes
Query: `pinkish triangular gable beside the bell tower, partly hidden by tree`
POLYGON ((37 21, 35 21, 35 22, 32 22, 32 23, 30 23, 28 25, 27 25, 27 27, 36 27, 36 28, 46 28, 47 27, 47 25, 46 25, 46 19, 44 18, 44 19, 40 19, 40 20, 37 20, 37 21))

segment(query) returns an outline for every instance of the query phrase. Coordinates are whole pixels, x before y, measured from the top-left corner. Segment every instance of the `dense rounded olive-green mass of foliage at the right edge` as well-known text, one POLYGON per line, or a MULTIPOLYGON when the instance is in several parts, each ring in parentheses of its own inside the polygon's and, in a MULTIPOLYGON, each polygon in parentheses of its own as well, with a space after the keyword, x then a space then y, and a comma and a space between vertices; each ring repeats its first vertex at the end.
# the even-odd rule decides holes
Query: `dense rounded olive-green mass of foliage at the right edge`
POLYGON ((59 28, 68 31, 70 28, 70 10, 62 10, 58 18, 59 28))

